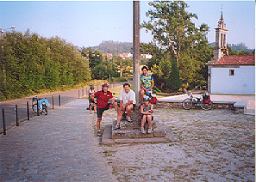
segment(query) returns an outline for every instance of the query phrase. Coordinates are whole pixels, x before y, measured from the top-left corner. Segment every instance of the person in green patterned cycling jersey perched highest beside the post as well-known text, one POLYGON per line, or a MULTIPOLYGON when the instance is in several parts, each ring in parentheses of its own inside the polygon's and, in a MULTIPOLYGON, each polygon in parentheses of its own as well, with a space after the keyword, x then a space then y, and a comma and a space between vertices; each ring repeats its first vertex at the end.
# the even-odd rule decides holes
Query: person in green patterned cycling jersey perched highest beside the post
POLYGON ((140 100, 142 102, 143 95, 153 88, 154 81, 153 81, 153 76, 147 73, 148 71, 147 66, 143 66, 141 70, 142 70, 142 74, 140 75, 140 100))

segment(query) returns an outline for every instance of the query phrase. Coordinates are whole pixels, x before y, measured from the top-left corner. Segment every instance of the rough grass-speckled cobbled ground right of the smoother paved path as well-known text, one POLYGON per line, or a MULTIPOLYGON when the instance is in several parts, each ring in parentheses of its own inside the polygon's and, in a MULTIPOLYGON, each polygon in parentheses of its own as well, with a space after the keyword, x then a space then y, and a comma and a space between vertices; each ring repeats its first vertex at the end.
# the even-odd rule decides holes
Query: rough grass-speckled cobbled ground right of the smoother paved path
MULTIPOLYGON (((118 181, 254 181, 255 116, 228 110, 155 109, 175 143, 103 146, 118 181)), ((104 113, 103 122, 116 119, 104 113)))

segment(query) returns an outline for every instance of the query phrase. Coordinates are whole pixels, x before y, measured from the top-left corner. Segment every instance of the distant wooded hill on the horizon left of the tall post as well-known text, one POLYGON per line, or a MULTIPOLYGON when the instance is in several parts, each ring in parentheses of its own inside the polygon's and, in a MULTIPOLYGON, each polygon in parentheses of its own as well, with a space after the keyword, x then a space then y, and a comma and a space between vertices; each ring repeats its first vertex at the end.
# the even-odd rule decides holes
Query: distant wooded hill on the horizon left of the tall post
POLYGON ((113 40, 103 41, 97 46, 92 46, 92 50, 98 50, 103 53, 122 54, 133 52, 133 43, 131 42, 114 42, 113 40))

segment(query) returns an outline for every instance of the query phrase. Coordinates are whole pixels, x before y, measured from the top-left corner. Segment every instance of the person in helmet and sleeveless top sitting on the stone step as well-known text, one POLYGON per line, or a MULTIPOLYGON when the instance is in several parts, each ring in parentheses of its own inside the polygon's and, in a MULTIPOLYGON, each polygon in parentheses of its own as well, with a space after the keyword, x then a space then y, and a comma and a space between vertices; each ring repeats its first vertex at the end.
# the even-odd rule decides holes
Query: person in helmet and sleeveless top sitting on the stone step
POLYGON ((146 121, 148 122, 149 128, 148 133, 152 133, 152 113, 153 113, 153 104, 150 104, 150 97, 145 96, 143 97, 143 104, 140 106, 140 116, 141 116, 141 133, 145 134, 146 131, 144 130, 144 124, 146 121))

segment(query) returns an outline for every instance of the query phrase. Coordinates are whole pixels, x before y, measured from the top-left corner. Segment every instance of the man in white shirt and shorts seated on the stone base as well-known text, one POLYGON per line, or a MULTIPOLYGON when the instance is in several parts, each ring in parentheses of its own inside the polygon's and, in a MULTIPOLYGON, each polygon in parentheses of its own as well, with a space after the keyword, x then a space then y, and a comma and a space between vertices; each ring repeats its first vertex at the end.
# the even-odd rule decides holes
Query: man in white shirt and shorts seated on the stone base
POLYGON ((135 93, 133 90, 131 90, 130 85, 128 83, 123 84, 123 89, 120 92, 120 107, 118 107, 118 104, 115 102, 115 109, 117 111, 117 124, 116 124, 116 130, 120 129, 120 122, 122 119, 122 114, 127 111, 127 120, 128 122, 132 122, 132 119, 130 118, 131 112, 136 105, 136 99, 135 99, 135 93))

